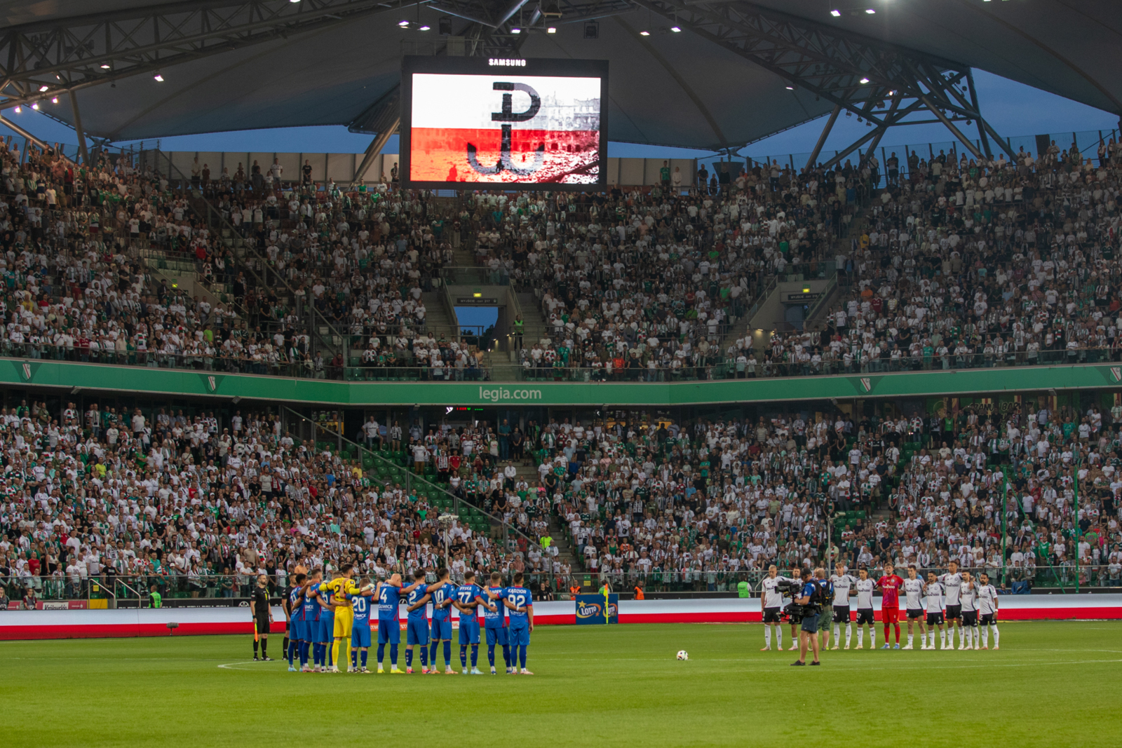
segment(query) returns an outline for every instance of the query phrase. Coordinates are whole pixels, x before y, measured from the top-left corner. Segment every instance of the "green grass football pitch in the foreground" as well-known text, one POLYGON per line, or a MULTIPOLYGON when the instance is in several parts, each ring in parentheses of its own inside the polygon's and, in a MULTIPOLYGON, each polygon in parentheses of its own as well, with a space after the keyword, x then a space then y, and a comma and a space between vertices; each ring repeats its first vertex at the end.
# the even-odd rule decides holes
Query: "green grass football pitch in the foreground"
POLYGON ((1122 744, 1122 624, 1001 628, 1000 652, 827 652, 811 668, 758 652, 758 625, 548 626, 533 677, 296 674, 247 662, 249 637, 12 641, 0 713, 9 746, 837 747, 882 745, 889 724, 901 745, 1122 744))

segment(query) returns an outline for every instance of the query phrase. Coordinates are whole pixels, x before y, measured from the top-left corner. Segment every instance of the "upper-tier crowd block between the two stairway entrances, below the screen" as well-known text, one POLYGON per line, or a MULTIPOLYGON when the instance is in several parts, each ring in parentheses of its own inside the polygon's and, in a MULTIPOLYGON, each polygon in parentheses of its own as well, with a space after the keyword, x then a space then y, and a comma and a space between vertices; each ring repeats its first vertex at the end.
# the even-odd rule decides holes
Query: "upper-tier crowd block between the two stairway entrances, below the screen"
POLYGON ((772 278, 825 275, 871 176, 850 164, 767 174, 755 166, 711 192, 615 190, 591 198, 587 220, 574 202, 476 195, 502 228, 479 261, 541 305, 545 327, 521 351, 527 376, 712 376, 721 340, 772 278))

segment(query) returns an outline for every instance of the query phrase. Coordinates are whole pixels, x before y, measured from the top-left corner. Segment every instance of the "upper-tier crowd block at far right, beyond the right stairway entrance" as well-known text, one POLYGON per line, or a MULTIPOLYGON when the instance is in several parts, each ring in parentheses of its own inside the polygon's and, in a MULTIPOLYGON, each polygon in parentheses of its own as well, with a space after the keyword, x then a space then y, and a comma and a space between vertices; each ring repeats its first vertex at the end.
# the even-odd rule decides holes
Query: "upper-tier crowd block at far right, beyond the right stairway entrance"
MULTIPOLYGON (((1119 360, 1122 149, 1055 141, 1034 158, 912 153, 836 262, 844 290, 816 330, 741 341, 773 376, 1119 360)), ((737 349, 739 355, 741 348, 737 349)))

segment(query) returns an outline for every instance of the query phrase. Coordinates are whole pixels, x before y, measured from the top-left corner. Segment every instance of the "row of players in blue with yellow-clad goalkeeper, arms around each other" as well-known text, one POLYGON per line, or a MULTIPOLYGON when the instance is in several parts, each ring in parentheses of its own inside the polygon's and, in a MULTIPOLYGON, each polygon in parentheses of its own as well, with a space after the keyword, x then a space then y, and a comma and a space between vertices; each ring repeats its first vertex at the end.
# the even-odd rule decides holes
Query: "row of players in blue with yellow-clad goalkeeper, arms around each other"
POLYGON ((462 584, 453 584, 447 569, 438 571, 438 581, 433 584, 425 582, 423 571, 415 572, 414 581, 407 585, 401 574, 377 583, 365 578, 356 583, 353 576, 353 566, 344 564, 328 582, 319 570, 293 578, 293 587, 285 599, 289 616, 286 646, 289 672, 341 673, 339 663, 342 662, 348 673, 369 673, 367 657, 376 631, 379 673, 385 672, 388 644, 390 674, 413 673, 414 648, 420 649, 421 673, 440 674, 436 653, 443 644, 444 673, 454 675, 451 664, 454 609, 459 613, 460 665, 465 675, 482 675, 478 668, 480 611, 491 674, 497 673, 495 648, 502 647, 507 674, 533 675, 526 669, 526 647, 530 646, 530 632, 534 630, 534 604, 533 595, 523 585, 522 572, 514 574, 511 587, 502 584, 498 573, 490 575, 488 587, 480 587, 475 572, 470 571, 465 573, 462 584), (397 667, 398 606, 403 599, 407 610, 404 671, 397 667), (371 620, 375 606, 376 621, 371 620))

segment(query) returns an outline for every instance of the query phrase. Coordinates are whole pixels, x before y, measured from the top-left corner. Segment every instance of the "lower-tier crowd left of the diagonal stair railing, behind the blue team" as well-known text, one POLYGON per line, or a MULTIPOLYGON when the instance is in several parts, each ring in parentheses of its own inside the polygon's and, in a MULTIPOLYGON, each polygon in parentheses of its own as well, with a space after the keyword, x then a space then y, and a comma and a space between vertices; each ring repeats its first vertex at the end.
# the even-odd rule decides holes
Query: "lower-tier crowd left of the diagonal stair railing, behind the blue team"
MULTIPOLYGON (((485 436, 462 436, 467 478, 457 490, 472 498, 493 493, 496 465, 472 446, 485 436)), ((380 578, 434 571, 445 557, 457 573, 549 563, 525 537, 504 548, 500 533, 458 518, 441 527, 425 496, 378 480, 344 452, 297 443, 275 414, 238 412, 220 427, 208 413, 162 408, 146 418, 93 405, 83 414, 71 403, 49 414, 25 403, 0 413, 0 579, 12 599, 85 597, 93 581, 122 597, 153 584, 241 597, 258 573, 283 587, 297 561, 352 561, 380 578)), ((506 500, 491 508, 533 529, 532 509, 506 500)))

